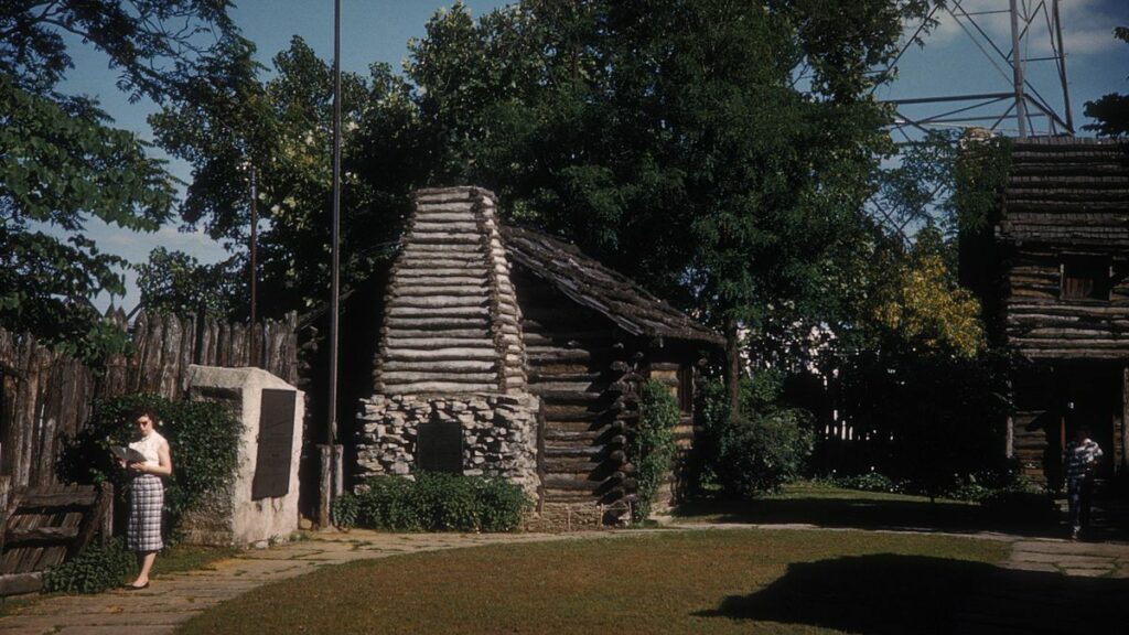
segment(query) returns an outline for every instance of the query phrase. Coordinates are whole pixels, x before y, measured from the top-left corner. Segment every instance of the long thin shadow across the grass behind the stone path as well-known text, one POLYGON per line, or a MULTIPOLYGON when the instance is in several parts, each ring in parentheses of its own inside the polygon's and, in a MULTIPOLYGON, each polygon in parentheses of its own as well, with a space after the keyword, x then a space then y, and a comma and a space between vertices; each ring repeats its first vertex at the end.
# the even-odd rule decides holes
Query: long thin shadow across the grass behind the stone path
POLYGON ((830 528, 914 529, 954 533, 1003 531, 1031 537, 1061 537, 1053 514, 1032 519, 1003 517, 980 505, 951 501, 876 499, 852 497, 759 498, 700 501, 676 510, 682 520, 732 523, 804 523, 830 528))

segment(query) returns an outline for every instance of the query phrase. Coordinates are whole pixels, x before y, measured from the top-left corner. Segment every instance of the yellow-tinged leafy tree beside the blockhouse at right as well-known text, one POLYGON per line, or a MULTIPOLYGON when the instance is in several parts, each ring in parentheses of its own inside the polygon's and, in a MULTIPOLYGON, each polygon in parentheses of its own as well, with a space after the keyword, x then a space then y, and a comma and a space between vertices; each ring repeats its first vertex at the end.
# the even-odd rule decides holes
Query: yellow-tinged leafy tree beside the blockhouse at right
MULTIPOLYGON (((969 241, 991 241, 1007 150, 996 139, 937 136, 913 148, 886 182, 886 200, 911 212, 919 206, 925 226, 911 247, 896 241, 864 256, 870 271, 860 278, 859 318, 833 367, 838 406, 856 437, 867 438, 867 452, 854 458, 857 464, 825 468, 877 469, 930 496, 1006 473, 999 450, 1006 358, 988 347, 980 303, 955 272, 957 241, 965 242, 962 267, 970 252, 984 258, 975 252, 986 247, 969 241), (948 198, 939 210, 926 209, 938 186, 948 198)), ((972 267, 979 272, 983 263, 972 267)))

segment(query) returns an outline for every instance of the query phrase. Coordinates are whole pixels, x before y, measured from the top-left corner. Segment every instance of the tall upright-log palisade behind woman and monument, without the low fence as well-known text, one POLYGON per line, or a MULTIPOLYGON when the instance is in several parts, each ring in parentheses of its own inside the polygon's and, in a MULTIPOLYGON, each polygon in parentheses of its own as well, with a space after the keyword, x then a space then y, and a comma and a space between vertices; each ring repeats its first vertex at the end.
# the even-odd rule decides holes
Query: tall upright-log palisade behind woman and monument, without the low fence
MULTIPOLYGON (((114 316, 124 324, 125 316, 114 316)), ((190 364, 259 366, 298 381, 297 316, 254 329, 194 318, 141 314, 131 330, 133 353, 95 369, 0 329, 0 473, 12 487, 55 485, 54 463, 65 438, 90 417, 94 401, 134 392, 180 399, 190 364)))

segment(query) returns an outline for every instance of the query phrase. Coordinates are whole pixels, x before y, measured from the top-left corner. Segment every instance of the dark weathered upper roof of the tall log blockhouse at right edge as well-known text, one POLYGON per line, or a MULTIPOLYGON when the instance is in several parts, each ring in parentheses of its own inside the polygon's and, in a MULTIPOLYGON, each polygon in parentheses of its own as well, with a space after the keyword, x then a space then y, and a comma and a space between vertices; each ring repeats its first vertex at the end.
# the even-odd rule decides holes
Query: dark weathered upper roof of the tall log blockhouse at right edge
POLYGON ((1129 145, 1015 140, 998 235, 1010 243, 1129 246, 1129 145))

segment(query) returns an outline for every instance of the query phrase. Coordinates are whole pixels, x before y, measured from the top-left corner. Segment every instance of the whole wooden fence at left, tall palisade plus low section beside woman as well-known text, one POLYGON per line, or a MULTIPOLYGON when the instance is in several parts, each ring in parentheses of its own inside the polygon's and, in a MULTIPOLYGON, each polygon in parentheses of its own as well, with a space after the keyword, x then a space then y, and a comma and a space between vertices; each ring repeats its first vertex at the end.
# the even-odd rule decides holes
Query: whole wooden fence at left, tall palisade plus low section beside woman
MULTIPOLYGON (((111 318, 126 325, 121 311, 111 318)), ((294 313, 254 327, 141 314, 132 353, 100 368, 0 329, 0 597, 37 591, 44 569, 99 529, 103 539, 110 533, 108 485, 61 484, 55 473, 65 440, 87 425, 96 400, 137 392, 178 399, 190 364, 259 366, 297 383, 296 327, 294 313)))

